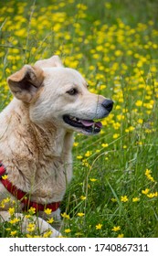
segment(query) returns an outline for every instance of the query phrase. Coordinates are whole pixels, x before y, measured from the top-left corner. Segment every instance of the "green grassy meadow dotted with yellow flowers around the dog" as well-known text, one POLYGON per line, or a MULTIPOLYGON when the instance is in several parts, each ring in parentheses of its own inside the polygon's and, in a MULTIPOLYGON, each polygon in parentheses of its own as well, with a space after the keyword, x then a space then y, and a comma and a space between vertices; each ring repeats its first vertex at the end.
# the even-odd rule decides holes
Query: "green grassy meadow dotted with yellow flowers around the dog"
MULTIPOLYGON (((115 102, 100 134, 75 133, 64 237, 158 237, 157 9, 156 0, 0 2, 0 111, 12 97, 6 78, 54 54, 115 102)), ((1 236, 22 237, 10 214, 1 236)))

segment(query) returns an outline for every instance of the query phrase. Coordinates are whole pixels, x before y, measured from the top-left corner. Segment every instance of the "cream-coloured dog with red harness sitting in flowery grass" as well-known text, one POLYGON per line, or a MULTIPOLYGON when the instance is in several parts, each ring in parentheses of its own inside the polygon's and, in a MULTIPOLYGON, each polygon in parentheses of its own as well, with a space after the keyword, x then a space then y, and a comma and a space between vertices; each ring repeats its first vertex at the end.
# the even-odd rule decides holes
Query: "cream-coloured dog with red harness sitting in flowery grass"
MULTIPOLYGON (((16 199, 19 212, 35 207, 41 232, 49 228, 57 237, 44 209, 60 220, 72 177, 73 133, 100 133, 101 123, 93 120, 108 116, 113 101, 88 91, 86 80, 58 56, 25 65, 7 83, 14 98, 0 113, 0 168, 7 175, 0 180, 0 200, 16 199)), ((9 219, 7 210, 7 204, 1 208, 1 219, 9 219)))

